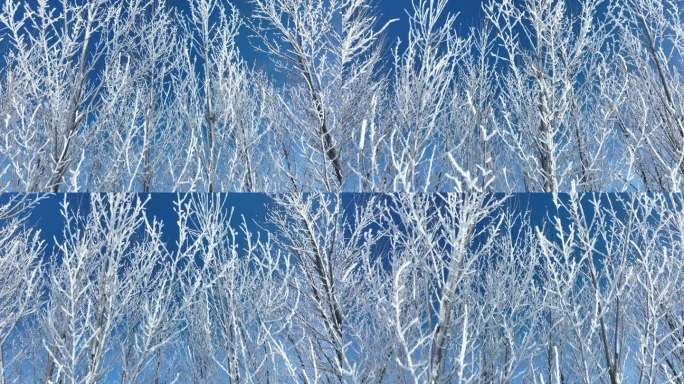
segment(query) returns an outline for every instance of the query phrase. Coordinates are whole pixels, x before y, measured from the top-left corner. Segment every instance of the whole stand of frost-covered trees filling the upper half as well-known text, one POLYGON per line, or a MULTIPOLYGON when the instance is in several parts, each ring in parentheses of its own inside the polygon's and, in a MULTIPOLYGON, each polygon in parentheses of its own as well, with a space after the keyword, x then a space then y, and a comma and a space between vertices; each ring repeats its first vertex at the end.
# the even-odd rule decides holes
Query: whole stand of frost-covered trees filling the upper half
POLYGON ((6 1, 3 189, 680 189, 677 1, 402 6, 6 1))

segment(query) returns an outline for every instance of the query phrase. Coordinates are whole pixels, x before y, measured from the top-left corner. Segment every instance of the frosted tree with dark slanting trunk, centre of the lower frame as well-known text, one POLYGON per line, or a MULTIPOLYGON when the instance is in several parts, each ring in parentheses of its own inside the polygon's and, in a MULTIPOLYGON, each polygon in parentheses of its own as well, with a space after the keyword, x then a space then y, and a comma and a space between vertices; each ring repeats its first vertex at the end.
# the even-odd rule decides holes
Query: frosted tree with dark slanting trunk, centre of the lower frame
MULTIPOLYGON (((287 335, 301 368, 298 381, 363 382, 380 378, 386 356, 374 337, 373 303, 359 299, 364 266, 378 240, 378 204, 371 198, 345 211, 339 196, 284 195, 271 216, 276 239, 296 262, 298 313, 287 335), (377 344, 376 344, 377 343, 377 344)), ((378 332, 378 335, 381 335, 378 332)))

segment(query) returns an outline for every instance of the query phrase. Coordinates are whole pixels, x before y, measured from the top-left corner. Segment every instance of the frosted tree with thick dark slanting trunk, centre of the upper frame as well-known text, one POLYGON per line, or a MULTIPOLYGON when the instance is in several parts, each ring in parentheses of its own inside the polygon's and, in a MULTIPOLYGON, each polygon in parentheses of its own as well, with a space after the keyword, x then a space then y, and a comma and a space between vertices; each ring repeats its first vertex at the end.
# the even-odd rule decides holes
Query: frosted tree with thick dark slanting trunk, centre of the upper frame
POLYGON ((364 109, 364 96, 376 92, 376 48, 387 24, 376 29, 366 0, 254 0, 253 5, 252 30, 263 50, 278 70, 297 80, 279 97, 288 139, 301 148, 299 159, 282 153, 284 168, 310 163, 300 176, 304 186, 337 191, 349 177, 345 158, 351 153, 344 153, 352 150, 346 144, 358 129, 359 108, 364 109))

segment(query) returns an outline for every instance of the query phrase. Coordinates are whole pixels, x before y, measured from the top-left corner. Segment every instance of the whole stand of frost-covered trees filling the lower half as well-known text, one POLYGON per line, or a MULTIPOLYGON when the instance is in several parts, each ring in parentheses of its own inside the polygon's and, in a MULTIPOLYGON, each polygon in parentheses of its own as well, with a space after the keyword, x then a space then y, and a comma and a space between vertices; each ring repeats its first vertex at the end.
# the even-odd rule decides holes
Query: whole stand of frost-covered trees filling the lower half
POLYGON ((684 377, 679 195, 73 201, 53 249, 2 222, 5 382, 684 377))

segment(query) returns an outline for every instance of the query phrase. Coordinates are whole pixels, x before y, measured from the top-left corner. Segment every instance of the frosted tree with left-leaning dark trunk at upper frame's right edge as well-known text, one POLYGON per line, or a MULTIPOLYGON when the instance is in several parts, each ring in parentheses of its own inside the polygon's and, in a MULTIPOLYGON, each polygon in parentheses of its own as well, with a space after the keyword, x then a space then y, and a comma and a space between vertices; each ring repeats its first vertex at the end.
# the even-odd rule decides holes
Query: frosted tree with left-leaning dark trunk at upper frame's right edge
POLYGON ((647 191, 679 191, 682 140, 681 4, 619 2, 615 15, 621 84, 612 111, 629 154, 632 177, 647 191))

